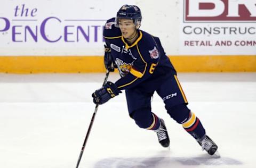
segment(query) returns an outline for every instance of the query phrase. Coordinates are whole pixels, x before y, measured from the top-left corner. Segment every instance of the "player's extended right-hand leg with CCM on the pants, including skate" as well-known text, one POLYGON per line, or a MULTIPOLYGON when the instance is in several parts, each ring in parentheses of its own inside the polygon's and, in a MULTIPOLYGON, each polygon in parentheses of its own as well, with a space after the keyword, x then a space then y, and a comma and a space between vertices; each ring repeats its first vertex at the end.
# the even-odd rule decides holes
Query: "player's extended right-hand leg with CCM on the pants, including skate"
MULTIPOLYGON (((176 122, 182 124, 182 127, 204 147, 202 145, 204 144, 203 140, 209 137, 206 136, 201 121, 195 113, 191 112, 187 107, 188 102, 177 76, 173 75, 167 78, 161 88, 157 90, 157 93, 164 100, 167 113, 169 113, 176 122)), ((211 149, 205 150, 212 155, 218 147, 212 140, 208 142, 211 142, 211 149)))

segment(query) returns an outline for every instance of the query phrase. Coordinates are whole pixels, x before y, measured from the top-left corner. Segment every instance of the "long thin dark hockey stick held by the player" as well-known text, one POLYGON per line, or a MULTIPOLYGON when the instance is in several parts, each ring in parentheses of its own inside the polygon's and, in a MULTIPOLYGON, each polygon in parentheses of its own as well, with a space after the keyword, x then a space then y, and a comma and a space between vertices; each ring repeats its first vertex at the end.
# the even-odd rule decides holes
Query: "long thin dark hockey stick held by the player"
MULTIPOLYGON (((107 70, 107 72, 106 72, 106 77, 105 77, 105 79, 104 79, 103 85, 105 85, 105 84, 107 83, 109 72, 110 72, 110 71, 107 70)), ((102 86, 103 86, 103 85, 102 85, 102 86)), ((86 133, 86 136, 85 136, 85 139, 84 139, 84 144, 83 144, 83 146, 82 146, 82 149, 81 149, 81 152, 80 152, 80 155, 79 155, 77 164, 76 164, 76 168, 78 168, 79 163, 80 163, 80 161, 81 161, 81 158, 82 158, 82 156, 83 156, 84 148, 85 148, 86 142, 87 142, 87 140, 88 140, 88 138, 89 138, 89 135, 90 135, 90 132, 91 132, 91 129, 92 129, 92 124, 93 124, 93 122, 94 122, 95 115, 96 115, 96 113, 97 113, 97 111, 98 111, 98 107, 99 107, 99 103, 97 103, 96 106, 95 106, 95 110, 94 110, 94 113, 93 113, 93 115, 92 115, 91 123, 90 123, 90 125, 89 125, 89 128, 88 128, 88 130, 87 130, 87 133, 86 133)))

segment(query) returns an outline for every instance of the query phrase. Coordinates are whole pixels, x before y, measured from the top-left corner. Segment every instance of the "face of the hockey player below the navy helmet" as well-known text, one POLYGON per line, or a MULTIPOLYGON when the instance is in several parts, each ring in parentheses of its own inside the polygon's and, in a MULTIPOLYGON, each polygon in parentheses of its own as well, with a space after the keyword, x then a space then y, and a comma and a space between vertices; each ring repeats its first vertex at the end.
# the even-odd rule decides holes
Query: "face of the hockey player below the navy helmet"
POLYGON ((119 28, 122 32, 124 38, 132 38, 136 33, 135 24, 131 19, 119 19, 118 20, 119 28))

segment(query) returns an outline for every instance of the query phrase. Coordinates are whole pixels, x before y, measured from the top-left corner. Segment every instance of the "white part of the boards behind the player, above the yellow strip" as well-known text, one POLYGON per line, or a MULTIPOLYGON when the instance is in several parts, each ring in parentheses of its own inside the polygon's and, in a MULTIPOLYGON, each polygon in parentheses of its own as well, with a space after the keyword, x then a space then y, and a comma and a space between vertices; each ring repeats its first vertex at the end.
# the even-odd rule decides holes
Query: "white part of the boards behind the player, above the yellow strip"
MULTIPOLYGON (((196 6, 195 2, 203 1, 193 1, 193 4, 196 6)), ((227 6, 227 4, 223 3, 227 1, 212 1, 215 3, 215 9, 217 9, 217 14, 213 18, 216 18, 218 14, 221 16, 219 21, 214 22, 209 20, 202 21, 200 19, 195 19, 194 21, 184 20, 184 9, 186 9, 184 2, 186 1, 3 0, 0 6, 0 55, 102 55, 102 26, 105 20, 115 16, 119 7, 127 3, 136 4, 140 7, 142 11, 141 29, 160 37, 167 55, 256 54, 256 16, 253 13, 254 9, 256 11, 256 6, 254 5, 255 8, 250 7, 249 9, 250 3, 256 4, 255 0, 240 1, 241 3, 247 3, 245 6, 247 5, 249 14, 251 12, 250 17, 248 17, 248 12, 244 12, 244 8, 239 8, 239 10, 242 11, 245 18, 251 19, 249 21, 246 19, 241 20, 240 18, 242 16, 235 17, 235 21, 225 20, 226 16, 221 15, 221 7, 218 7, 218 5, 222 2, 222 5, 225 7, 223 10, 233 11, 233 13, 236 6, 227 6), (25 5, 25 10, 23 10, 23 15, 21 16, 22 5, 25 5), (15 10, 17 6, 19 10, 15 10), (28 15, 26 15, 26 9, 28 10, 28 15), (31 15, 33 9, 34 13, 31 15), (46 35, 43 37, 40 31, 42 23, 46 18, 51 16, 55 18, 47 21, 45 29, 42 29, 46 35), (6 22, 3 18, 6 18, 10 22, 10 28, 6 31, 3 31, 3 29, 6 28, 8 21, 6 22), (37 32, 36 41, 35 38, 33 39, 31 37, 28 29, 25 28, 26 26, 29 26, 34 33, 37 32), (81 29, 77 31, 78 27, 83 29, 86 35, 89 35, 88 39, 82 35, 81 29), (227 27, 227 30, 226 32, 221 31, 218 34, 186 34, 183 32, 183 28, 185 27, 187 27, 186 30, 189 32, 190 27, 196 28, 197 33, 198 30, 203 28, 221 29, 222 27, 227 27), (247 29, 247 31, 250 29, 250 32, 246 32, 244 35, 235 34, 235 31, 227 33, 231 27, 231 30, 236 29, 236 33, 239 28, 241 30, 247 29), (95 31, 97 32, 97 37, 95 37, 95 31), (77 32, 79 39, 77 39, 77 32), (56 41, 51 43, 47 39, 56 41), (185 41, 187 41, 186 45, 185 41), (226 44, 226 46, 218 46, 218 42, 226 44), (245 45, 241 46, 243 43, 245 45)), ((207 15, 209 13, 213 13, 213 10, 206 10, 203 14, 207 15)))

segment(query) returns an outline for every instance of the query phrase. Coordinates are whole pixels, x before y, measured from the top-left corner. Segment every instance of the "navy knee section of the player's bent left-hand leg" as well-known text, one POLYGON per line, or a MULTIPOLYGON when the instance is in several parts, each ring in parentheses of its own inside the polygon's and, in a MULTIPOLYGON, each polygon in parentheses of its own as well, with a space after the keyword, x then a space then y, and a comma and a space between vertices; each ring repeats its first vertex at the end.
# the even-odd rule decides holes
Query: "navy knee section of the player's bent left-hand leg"
POLYGON ((150 108, 140 108, 133 111, 130 116, 140 128, 148 129, 152 125, 154 118, 150 108))

